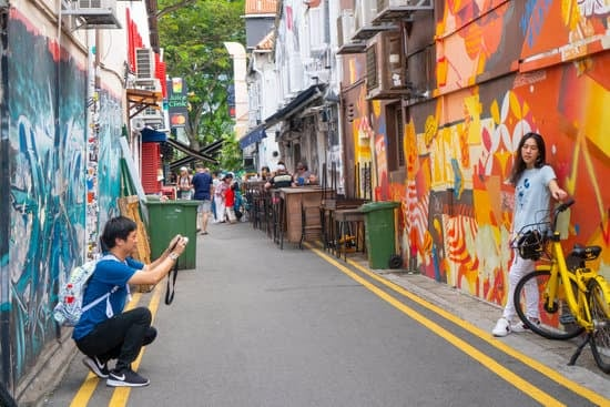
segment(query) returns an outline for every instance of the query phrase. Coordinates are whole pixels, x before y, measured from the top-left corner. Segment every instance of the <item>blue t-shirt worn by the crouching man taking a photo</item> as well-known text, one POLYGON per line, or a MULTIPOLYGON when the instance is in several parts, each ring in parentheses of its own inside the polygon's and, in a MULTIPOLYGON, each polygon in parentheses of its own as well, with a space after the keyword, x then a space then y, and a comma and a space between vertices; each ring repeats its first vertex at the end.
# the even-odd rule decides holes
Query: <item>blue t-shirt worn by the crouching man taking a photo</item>
MULTIPOLYGON (((84 289, 83 306, 110 293, 112 288, 119 287, 110 295, 110 305, 114 315, 121 314, 128 298, 128 282, 135 272, 143 267, 144 264, 131 257, 128 257, 124 263, 116 258, 100 260, 84 289)), ((79 340, 85 337, 98 324, 106 319, 106 302, 102 301, 81 315, 72 332, 72 338, 79 340)))

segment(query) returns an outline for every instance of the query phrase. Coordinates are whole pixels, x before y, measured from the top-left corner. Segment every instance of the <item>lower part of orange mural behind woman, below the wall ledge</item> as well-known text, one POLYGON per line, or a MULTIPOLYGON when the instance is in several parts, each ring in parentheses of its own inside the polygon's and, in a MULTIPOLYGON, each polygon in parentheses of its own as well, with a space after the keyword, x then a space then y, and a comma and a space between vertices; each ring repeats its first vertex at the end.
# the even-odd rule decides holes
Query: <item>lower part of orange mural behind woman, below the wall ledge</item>
POLYGON ((498 98, 484 96, 487 89, 477 88, 447 101, 461 104, 460 121, 441 125, 439 116, 430 115, 419 133, 414 123, 407 125, 403 236, 423 273, 487 301, 506 302, 514 206, 506 179, 520 138, 536 131, 546 139, 547 160, 560 185, 577 200, 566 246, 601 245, 598 266, 610 276, 610 192, 602 187, 610 177, 610 116, 597 108, 610 105, 608 64, 604 54, 584 72, 567 64, 516 75, 498 98))

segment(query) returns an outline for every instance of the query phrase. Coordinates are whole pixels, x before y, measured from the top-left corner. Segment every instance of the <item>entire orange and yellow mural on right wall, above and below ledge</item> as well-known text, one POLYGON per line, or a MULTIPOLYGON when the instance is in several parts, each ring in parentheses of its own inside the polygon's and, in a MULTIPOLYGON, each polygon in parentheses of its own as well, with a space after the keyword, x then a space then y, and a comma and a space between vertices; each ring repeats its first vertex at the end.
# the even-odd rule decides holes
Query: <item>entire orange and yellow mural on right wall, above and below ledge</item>
POLYGON ((514 207, 506 180, 521 136, 536 131, 545 136, 559 184, 577 202, 565 246, 602 246, 594 265, 608 277, 610 190, 602 182, 610 177, 610 53, 597 51, 610 8, 497 1, 480 10, 479 3, 447 3, 437 30, 453 32, 439 48, 444 92, 409 110, 407 179, 392 185, 406 189, 404 246, 424 274, 504 304, 514 207), (487 35, 507 30, 510 35, 495 37, 505 41, 501 47, 487 35), (575 38, 580 42, 571 45, 575 38), (498 61, 520 71, 472 85, 478 75, 498 72, 498 61))

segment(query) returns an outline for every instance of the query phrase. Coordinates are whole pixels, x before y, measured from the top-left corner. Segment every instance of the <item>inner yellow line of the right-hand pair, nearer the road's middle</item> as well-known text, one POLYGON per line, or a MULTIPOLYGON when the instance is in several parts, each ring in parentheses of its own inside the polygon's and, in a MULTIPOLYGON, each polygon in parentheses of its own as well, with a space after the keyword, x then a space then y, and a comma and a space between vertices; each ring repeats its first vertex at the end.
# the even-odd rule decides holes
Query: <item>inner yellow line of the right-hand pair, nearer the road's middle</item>
MULTIPOLYGON (((511 386, 515 386, 519 390, 523 391, 538 403, 540 403, 543 406, 565 406, 561 401, 558 399, 551 397, 549 394, 542 391, 536 386, 532 386, 530 383, 528 383, 526 379, 521 378, 520 376, 516 375, 511 370, 507 369, 506 367, 501 366, 499 363, 494 360, 491 357, 487 356, 482 352, 478 350, 474 346, 467 344, 461 338, 457 337, 456 335, 451 334, 447 329, 443 328, 440 325, 436 324, 435 322, 426 318, 421 314, 417 313, 415 309, 408 307, 407 305, 400 303, 395 297, 390 296, 379 287, 375 286, 374 284, 367 282, 359 275, 355 274, 353 271, 344 266, 343 264, 338 263, 334 258, 329 257, 327 254, 323 253, 318 248, 314 248, 311 245, 308 247, 316 253, 318 256, 324 258, 326 262, 333 264, 335 267, 340 269, 343 273, 345 273, 350 278, 355 279, 359 284, 362 284, 364 287, 368 288, 373 293, 375 293, 377 296, 379 296, 382 299, 386 301, 390 305, 393 305, 395 308, 398 308, 403 313, 407 314, 413 319, 417 320, 419 324, 424 325, 426 328, 434 332, 436 335, 440 336, 445 340, 447 340, 449 344, 454 345, 465 354, 472 357, 475 360, 479 362, 484 367, 491 370, 494 374, 496 374, 498 377, 500 377, 502 380, 506 380, 511 386)), ((367 273, 368 274, 368 273, 367 273)), ((372 275, 373 276, 373 275, 372 275)), ((461 325, 461 324, 460 324, 461 325)))

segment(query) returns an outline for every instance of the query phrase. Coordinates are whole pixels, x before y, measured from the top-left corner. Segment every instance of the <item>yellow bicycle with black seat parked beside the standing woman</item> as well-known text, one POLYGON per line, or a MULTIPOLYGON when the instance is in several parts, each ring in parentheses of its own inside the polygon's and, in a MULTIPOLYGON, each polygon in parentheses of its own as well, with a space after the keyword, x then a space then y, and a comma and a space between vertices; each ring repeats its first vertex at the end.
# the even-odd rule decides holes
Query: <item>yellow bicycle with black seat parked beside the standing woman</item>
POLYGON ((551 222, 525 227, 528 232, 518 240, 517 250, 521 257, 542 260, 542 264, 517 284, 515 307, 523 325, 546 338, 571 339, 583 334, 569 365, 589 344, 599 368, 610 373, 610 286, 586 264, 598 258, 601 247, 575 245, 566 257, 557 231, 558 215, 573 203, 569 200, 558 205, 551 222), (539 319, 525 314, 528 289, 538 289, 539 319))

